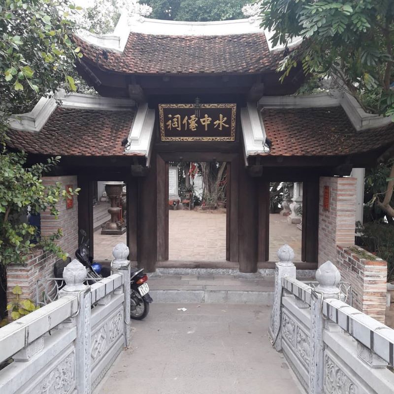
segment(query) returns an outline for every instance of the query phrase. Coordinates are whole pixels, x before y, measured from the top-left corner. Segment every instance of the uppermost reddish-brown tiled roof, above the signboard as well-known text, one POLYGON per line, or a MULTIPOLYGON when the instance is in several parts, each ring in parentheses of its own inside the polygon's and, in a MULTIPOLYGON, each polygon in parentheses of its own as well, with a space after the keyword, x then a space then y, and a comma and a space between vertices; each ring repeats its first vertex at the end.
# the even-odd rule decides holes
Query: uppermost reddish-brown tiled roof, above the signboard
MULTIPOLYGON (((139 74, 260 73, 275 70, 264 33, 170 36, 130 33, 122 54, 104 51, 74 37, 84 58, 101 68, 139 74)), ((82 58, 82 60, 84 60, 82 58)))

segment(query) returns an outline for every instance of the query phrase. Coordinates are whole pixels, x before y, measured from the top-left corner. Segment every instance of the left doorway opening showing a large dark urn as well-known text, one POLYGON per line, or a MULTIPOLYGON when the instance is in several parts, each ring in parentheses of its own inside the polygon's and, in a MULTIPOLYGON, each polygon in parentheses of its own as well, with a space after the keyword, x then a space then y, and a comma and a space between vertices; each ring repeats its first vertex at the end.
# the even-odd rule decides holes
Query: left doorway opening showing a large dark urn
POLYGON ((127 244, 126 185, 94 182, 93 196, 93 260, 112 261, 113 247, 120 242, 127 244))

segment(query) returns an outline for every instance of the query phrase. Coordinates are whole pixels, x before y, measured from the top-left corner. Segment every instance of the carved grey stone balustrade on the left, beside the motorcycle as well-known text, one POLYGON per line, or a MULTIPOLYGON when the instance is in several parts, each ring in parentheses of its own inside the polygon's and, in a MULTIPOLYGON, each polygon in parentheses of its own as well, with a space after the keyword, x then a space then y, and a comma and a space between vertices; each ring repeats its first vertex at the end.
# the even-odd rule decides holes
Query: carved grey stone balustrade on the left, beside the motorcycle
POLYGON ((129 249, 113 251, 112 275, 86 285, 77 260, 59 299, 0 328, 1 394, 90 394, 130 343, 129 249))

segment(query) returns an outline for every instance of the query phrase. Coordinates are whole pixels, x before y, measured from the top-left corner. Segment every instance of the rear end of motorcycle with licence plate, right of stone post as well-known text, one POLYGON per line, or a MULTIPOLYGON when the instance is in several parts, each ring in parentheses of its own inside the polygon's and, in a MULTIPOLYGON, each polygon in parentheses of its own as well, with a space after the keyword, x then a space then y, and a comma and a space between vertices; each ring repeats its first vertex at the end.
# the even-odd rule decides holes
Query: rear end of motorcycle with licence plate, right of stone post
POLYGON ((148 275, 143 268, 132 268, 130 278, 130 317, 142 320, 149 313, 149 304, 153 302, 149 295, 149 286, 146 283, 148 275))

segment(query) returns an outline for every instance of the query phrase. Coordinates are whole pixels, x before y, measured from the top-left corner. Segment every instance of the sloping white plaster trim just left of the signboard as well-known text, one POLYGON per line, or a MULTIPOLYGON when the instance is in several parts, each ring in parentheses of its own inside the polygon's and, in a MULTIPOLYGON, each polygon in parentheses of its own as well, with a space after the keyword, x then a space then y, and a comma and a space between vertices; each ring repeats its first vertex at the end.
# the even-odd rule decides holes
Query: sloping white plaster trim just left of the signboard
POLYGON ((146 166, 150 163, 154 126, 155 110, 149 109, 148 104, 141 104, 131 125, 125 154, 144 155, 147 159, 146 166))

